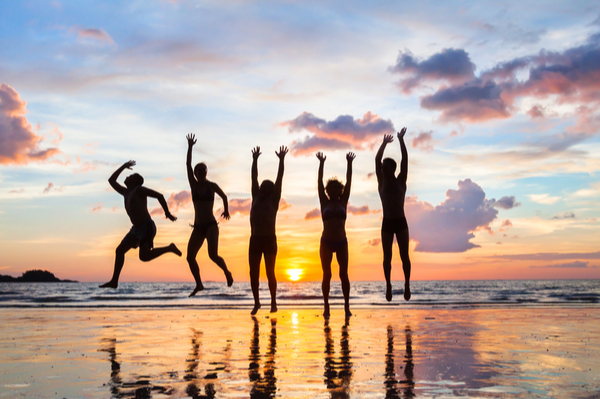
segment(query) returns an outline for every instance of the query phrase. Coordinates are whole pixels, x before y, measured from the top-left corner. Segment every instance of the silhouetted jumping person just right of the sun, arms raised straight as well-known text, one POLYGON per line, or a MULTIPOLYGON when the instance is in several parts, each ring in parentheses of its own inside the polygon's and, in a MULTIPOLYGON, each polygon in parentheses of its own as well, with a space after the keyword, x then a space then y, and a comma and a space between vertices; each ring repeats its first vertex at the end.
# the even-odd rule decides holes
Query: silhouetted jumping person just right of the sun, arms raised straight
POLYGON ((319 175, 317 185, 319 191, 319 202, 321 203, 321 217, 323 219, 323 234, 321 235, 321 268, 323 269, 323 291, 324 311, 323 316, 329 317, 329 288, 331 284, 331 261, 335 253, 340 266, 340 280, 342 281, 342 292, 344 294, 344 309, 346 317, 350 313, 350 279, 348 278, 348 239, 346 238, 346 208, 350 198, 350 187, 352 185, 352 161, 356 158, 353 152, 346 154, 346 185, 344 186, 337 178, 327 180, 327 186, 323 185, 323 166, 325 155, 317 152, 319 159, 319 175), (327 194, 326 194, 327 193, 327 194))

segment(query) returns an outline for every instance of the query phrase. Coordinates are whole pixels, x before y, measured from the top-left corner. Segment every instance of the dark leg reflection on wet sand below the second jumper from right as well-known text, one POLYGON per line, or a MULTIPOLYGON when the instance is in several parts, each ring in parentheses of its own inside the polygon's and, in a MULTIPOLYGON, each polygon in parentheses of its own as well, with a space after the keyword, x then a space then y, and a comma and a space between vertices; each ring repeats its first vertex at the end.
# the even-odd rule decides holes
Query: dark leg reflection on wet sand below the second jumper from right
POLYGON ((331 336, 329 319, 325 319, 325 385, 332 398, 349 398, 352 381, 352 357, 350 353, 349 318, 342 326, 340 339, 340 360, 335 360, 334 341, 331 336))

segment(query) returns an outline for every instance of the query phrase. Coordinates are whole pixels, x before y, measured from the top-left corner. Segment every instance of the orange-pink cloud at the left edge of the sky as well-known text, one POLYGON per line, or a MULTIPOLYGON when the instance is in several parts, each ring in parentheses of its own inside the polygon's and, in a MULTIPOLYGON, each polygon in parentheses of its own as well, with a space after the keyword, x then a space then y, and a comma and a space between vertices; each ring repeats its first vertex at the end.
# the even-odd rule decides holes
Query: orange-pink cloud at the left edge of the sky
MULTIPOLYGON (((7 84, 0 85, 0 164, 44 161, 60 153, 58 148, 39 148, 43 137, 33 132, 25 118, 27 103, 7 84)), ((60 134, 60 133, 59 133, 60 134)), ((55 143, 60 141, 61 136, 55 143)))

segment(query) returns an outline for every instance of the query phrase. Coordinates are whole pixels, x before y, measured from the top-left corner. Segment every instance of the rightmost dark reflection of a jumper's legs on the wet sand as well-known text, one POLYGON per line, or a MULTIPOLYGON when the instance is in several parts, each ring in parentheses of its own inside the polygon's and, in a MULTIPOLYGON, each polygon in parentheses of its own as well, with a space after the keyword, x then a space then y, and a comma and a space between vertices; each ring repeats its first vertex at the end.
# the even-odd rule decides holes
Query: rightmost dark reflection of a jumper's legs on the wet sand
POLYGON ((385 354, 385 397, 386 398, 414 398, 415 397, 415 380, 414 380, 414 368, 412 356, 412 332, 410 326, 406 326, 405 330, 406 337, 406 353, 404 355, 404 379, 396 379, 396 364, 394 356, 394 328, 388 326, 387 328, 387 352, 385 354), (398 385, 402 388, 398 389, 398 385), (401 393, 404 393, 402 396, 401 393))

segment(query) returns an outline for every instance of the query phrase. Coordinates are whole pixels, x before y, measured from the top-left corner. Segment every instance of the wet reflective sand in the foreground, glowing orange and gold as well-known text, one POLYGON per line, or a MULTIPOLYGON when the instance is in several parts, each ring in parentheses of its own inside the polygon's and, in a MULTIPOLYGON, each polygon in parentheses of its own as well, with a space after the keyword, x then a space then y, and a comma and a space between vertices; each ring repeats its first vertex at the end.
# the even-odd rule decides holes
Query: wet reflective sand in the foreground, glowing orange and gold
POLYGON ((0 398, 600 397, 600 309, 0 309, 0 398))

